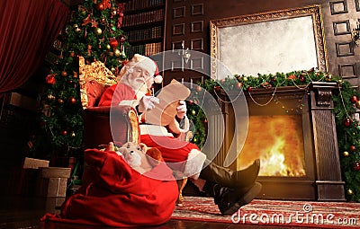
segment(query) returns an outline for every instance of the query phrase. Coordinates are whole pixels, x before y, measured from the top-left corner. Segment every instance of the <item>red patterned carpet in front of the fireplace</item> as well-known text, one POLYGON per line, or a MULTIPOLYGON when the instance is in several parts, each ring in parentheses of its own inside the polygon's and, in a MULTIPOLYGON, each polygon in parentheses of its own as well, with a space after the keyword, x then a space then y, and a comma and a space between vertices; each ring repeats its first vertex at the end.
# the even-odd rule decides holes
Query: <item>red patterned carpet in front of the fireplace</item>
POLYGON ((233 216, 221 216, 212 198, 184 197, 173 219, 238 225, 296 225, 323 228, 360 228, 360 203, 255 199, 233 216))

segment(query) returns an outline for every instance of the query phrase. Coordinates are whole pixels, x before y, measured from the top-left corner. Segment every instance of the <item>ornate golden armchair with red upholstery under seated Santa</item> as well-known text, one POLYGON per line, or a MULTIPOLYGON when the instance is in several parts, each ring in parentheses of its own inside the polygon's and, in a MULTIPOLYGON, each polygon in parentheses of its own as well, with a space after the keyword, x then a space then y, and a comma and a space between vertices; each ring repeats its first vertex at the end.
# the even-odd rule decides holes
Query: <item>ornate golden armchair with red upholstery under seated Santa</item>
MULTIPOLYGON (((102 62, 85 65, 84 57, 79 57, 79 73, 80 95, 84 108, 85 148, 103 148, 109 142, 116 145, 126 142, 139 143, 139 117, 136 110, 128 106, 97 107, 106 87, 117 83, 112 72, 102 62)), ((174 174, 178 179, 177 205, 180 205, 183 202, 182 190, 187 178, 181 172, 174 174)))

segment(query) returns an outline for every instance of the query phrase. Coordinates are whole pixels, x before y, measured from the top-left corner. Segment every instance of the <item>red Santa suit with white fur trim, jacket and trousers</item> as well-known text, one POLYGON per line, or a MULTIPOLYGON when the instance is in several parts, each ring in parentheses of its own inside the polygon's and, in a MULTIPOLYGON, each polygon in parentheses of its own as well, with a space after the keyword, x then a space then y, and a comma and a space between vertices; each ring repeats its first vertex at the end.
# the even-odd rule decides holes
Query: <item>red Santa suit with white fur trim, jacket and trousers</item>
MULTIPOLYGON (((142 92, 136 94, 129 85, 119 83, 103 92, 99 106, 130 105, 136 107, 143 95, 142 92)), ((140 119, 140 139, 141 143, 149 147, 157 147, 170 168, 183 172, 184 176, 192 177, 195 180, 199 177, 206 155, 200 151, 197 145, 180 141, 168 131, 168 128, 146 124, 144 119, 140 119)))

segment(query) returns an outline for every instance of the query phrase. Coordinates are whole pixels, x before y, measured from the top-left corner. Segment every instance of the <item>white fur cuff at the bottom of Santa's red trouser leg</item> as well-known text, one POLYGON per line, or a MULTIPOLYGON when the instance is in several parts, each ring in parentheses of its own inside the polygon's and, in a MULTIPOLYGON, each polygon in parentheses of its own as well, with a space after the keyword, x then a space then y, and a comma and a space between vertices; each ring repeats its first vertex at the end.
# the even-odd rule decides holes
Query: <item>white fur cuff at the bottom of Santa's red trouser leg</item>
POLYGON ((187 162, 184 169, 184 176, 191 177, 194 180, 199 179, 202 172, 202 165, 206 160, 206 155, 200 150, 192 149, 187 156, 187 162))

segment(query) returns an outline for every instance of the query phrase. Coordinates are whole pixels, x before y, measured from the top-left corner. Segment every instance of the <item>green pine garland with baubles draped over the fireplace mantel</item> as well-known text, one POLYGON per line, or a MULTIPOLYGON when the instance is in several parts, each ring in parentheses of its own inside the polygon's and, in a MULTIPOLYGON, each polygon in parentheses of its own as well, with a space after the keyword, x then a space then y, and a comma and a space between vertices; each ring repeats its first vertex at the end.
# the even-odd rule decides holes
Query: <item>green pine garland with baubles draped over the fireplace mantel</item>
MULTIPOLYGON (((338 135, 338 152, 341 172, 345 181, 347 201, 360 202, 360 93, 341 77, 316 71, 293 71, 275 75, 233 75, 221 80, 208 79, 193 88, 188 101, 188 116, 193 121, 195 135, 193 143, 202 147, 206 140, 207 119, 198 106, 202 91, 225 92, 242 90, 249 93, 253 89, 263 88, 275 92, 275 88, 296 86, 307 89, 313 82, 338 83, 338 92, 333 93, 334 109, 338 135)), ((214 93, 215 96, 217 93, 214 93)))

